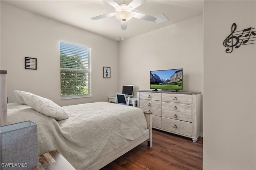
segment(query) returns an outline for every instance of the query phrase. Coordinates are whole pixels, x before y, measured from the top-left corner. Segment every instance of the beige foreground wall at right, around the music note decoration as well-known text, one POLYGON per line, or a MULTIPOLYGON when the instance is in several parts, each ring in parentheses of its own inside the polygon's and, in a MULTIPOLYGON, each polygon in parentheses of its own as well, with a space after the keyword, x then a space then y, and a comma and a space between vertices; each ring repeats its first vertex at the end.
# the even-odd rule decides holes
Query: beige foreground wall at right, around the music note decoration
POLYGON ((236 31, 255 28, 256 1, 204 1, 203 169, 207 170, 256 169, 256 41, 226 53, 223 41, 233 23, 236 31))

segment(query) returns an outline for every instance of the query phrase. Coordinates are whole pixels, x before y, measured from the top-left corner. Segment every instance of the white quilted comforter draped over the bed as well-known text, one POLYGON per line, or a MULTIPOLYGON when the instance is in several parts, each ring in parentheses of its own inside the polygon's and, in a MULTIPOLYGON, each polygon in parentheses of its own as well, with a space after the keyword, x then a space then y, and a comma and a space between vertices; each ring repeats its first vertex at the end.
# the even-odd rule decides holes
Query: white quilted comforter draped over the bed
POLYGON ((96 102, 63 108, 70 117, 56 121, 29 106, 8 104, 8 122, 37 123, 38 153, 57 149, 78 170, 147 132, 144 113, 137 107, 96 102))

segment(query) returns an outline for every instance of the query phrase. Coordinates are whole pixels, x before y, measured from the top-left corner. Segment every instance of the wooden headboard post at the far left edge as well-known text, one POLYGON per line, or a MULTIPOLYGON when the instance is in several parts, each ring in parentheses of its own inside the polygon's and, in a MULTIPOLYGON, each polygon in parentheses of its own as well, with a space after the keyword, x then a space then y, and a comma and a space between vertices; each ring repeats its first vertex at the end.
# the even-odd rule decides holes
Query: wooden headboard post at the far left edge
POLYGON ((7 125, 6 70, 0 71, 0 126, 7 125))

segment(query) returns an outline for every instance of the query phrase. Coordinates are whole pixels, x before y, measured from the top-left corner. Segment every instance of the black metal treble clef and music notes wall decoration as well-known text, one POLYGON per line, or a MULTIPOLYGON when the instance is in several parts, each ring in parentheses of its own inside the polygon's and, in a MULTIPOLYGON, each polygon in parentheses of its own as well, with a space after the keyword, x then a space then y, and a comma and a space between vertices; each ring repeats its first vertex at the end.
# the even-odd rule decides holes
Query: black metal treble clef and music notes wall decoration
POLYGON ((232 53, 233 47, 238 49, 241 45, 254 44, 256 40, 256 31, 253 31, 252 27, 246 28, 241 31, 236 31, 236 23, 233 23, 231 26, 231 33, 224 39, 223 45, 227 47, 226 53, 232 53), (251 35, 253 35, 251 37, 251 35))

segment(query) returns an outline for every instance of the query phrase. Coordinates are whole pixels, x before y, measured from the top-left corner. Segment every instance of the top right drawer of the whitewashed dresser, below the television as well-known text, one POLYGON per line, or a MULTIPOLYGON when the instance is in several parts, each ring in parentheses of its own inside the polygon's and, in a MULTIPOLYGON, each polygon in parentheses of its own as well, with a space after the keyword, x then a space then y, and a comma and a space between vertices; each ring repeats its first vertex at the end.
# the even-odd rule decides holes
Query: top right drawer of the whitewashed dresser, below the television
POLYGON ((175 102, 175 103, 185 103, 192 104, 192 95, 190 94, 162 94, 163 102, 175 102))

